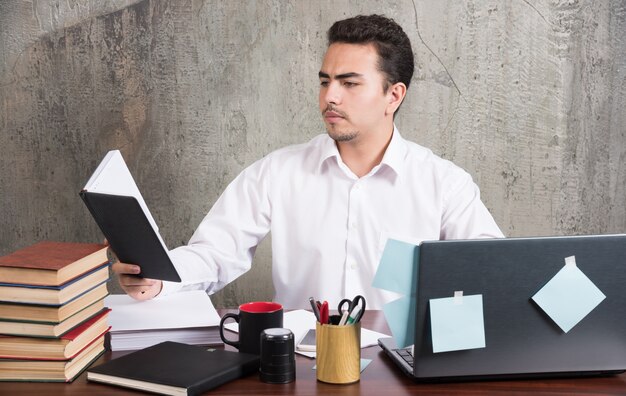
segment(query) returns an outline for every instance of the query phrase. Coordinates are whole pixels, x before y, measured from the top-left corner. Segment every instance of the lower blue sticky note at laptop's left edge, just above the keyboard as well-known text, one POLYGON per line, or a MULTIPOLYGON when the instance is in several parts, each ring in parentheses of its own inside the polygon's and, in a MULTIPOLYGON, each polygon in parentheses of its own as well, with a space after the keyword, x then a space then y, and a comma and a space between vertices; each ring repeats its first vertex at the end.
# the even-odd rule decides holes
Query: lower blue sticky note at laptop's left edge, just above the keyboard
POLYGON ((383 305, 383 313, 398 348, 415 343, 415 296, 404 296, 383 305))

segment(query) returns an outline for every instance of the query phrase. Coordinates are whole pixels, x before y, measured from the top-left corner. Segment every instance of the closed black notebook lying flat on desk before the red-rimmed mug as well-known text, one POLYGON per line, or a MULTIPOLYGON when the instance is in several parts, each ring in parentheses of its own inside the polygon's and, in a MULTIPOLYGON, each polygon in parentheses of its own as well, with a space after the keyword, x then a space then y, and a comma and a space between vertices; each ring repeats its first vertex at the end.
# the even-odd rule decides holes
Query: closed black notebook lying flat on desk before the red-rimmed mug
POLYGON ((258 370, 257 355, 167 341, 94 367, 87 379, 163 395, 197 395, 258 370))

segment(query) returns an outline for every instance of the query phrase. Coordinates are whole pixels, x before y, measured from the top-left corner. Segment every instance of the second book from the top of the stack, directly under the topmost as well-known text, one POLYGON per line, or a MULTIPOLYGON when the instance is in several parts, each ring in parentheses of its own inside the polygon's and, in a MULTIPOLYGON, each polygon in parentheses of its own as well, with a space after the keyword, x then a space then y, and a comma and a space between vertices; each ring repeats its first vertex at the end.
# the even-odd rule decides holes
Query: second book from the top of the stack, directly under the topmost
POLYGON ((61 286, 0 285, 0 301, 19 304, 66 304, 109 280, 109 265, 91 270, 61 286))

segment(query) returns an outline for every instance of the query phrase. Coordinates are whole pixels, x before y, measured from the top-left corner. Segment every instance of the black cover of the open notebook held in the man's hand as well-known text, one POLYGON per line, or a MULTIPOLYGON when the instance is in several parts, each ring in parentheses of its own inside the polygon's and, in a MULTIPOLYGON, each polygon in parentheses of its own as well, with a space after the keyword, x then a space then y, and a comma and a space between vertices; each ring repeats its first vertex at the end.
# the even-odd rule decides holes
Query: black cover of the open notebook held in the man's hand
POLYGON ((135 197, 88 191, 79 195, 121 262, 141 266, 141 277, 180 282, 174 264, 135 197))

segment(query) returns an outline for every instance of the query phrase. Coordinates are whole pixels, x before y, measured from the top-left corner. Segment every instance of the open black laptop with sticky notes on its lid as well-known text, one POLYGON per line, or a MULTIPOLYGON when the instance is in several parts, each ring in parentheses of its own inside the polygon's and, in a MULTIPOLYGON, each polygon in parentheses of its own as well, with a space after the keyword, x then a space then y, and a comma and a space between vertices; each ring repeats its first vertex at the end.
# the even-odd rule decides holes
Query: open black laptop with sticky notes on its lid
POLYGON ((626 370, 626 235, 429 241, 419 246, 415 345, 378 343, 417 381, 619 374, 626 370), (568 332, 532 297, 575 256, 606 296, 568 332), (482 295, 484 348, 433 353, 429 300, 482 295))

